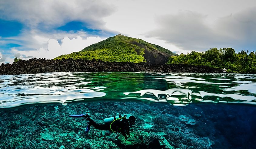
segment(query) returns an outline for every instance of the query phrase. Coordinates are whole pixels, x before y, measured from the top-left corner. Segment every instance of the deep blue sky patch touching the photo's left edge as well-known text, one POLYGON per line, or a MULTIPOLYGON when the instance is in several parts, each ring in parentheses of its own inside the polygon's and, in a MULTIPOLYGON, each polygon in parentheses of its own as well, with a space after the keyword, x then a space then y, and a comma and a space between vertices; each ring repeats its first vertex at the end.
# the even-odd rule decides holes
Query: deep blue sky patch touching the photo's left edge
POLYGON ((0 36, 17 36, 22 30, 22 24, 15 21, 5 21, 0 19, 0 36))

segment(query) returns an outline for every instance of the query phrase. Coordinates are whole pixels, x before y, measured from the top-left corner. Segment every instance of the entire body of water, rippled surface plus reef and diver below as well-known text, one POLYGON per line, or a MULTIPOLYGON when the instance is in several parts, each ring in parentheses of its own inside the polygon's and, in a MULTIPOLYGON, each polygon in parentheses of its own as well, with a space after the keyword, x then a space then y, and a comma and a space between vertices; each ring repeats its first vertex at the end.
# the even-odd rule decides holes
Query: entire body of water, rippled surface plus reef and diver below
POLYGON ((255 104, 255 74, 4 75, 0 148, 254 149, 255 104))

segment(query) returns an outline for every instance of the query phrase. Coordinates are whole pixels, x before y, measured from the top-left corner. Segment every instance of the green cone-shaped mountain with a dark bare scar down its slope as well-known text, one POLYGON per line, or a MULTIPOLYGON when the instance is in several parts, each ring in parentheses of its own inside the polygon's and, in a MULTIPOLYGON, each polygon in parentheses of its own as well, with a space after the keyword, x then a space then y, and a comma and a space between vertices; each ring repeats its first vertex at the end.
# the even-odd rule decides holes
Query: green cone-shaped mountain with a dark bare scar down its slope
POLYGON ((106 62, 166 63, 172 55, 177 54, 144 40, 118 34, 96 44, 92 44, 79 52, 56 57, 54 60, 64 57, 65 59, 81 58, 85 60, 95 58, 96 60, 106 62))

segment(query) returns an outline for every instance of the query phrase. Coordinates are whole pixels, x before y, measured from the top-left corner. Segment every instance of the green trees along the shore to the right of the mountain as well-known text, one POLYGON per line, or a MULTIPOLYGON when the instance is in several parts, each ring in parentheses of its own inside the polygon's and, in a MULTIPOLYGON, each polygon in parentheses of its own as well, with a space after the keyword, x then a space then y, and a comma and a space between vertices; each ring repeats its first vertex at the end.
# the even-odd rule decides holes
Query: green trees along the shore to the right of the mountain
POLYGON ((205 53, 192 51, 170 57, 168 64, 205 65, 226 68, 230 73, 256 73, 256 52, 242 50, 236 53, 232 48, 210 48, 205 53))

